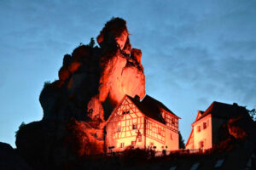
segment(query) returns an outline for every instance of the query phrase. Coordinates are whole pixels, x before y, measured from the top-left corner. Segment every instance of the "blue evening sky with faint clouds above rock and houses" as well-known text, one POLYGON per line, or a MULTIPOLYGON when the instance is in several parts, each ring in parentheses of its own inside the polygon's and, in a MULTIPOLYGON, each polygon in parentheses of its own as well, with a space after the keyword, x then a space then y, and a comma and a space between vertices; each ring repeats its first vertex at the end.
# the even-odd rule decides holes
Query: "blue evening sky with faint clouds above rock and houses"
POLYGON ((177 116, 186 140, 212 101, 256 107, 256 1, 0 1, 0 141, 43 116, 38 96, 64 54, 113 16, 143 51, 146 93, 177 116))

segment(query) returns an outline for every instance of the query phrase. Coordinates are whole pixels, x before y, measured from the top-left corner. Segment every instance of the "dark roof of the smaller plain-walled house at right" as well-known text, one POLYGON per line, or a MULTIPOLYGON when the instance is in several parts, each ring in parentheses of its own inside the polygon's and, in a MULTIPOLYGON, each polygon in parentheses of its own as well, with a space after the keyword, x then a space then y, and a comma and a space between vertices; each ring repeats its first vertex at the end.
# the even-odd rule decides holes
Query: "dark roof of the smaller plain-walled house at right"
POLYGON ((239 106, 236 103, 233 105, 224 104, 221 102, 213 101, 212 104, 207 108, 202 116, 200 116, 195 122, 201 120, 201 118, 211 114, 214 117, 230 119, 236 116, 247 116, 247 110, 245 107, 239 106))

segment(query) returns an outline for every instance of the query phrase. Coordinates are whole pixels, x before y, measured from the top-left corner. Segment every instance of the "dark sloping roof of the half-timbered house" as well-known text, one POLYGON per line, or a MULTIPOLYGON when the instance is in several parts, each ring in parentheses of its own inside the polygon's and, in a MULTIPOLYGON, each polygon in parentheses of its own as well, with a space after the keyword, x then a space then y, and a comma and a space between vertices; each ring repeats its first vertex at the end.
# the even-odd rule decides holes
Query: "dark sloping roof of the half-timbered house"
MULTIPOLYGON (((128 96, 128 95, 127 95, 128 96)), ((143 112, 145 116, 148 116, 158 122, 166 124, 165 120, 161 116, 161 110, 165 110, 172 114, 172 116, 175 116, 179 119, 178 116, 176 116, 172 111, 170 111, 166 105, 163 105, 160 101, 150 97, 149 95, 146 95, 142 101, 136 98, 132 98, 131 96, 128 96, 129 99, 134 103, 134 105, 137 106, 137 108, 143 112)))

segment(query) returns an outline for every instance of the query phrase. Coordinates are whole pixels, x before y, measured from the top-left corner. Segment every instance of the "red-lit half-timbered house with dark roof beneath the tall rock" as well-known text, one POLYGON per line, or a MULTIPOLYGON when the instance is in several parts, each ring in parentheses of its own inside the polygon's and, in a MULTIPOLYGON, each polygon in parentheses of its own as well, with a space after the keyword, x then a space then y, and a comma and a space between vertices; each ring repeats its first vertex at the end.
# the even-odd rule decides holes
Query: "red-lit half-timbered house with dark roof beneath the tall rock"
POLYGON ((141 149, 178 150, 178 119, 160 101, 146 95, 125 95, 108 117, 106 145, 108 151, 127 147, 141 149))

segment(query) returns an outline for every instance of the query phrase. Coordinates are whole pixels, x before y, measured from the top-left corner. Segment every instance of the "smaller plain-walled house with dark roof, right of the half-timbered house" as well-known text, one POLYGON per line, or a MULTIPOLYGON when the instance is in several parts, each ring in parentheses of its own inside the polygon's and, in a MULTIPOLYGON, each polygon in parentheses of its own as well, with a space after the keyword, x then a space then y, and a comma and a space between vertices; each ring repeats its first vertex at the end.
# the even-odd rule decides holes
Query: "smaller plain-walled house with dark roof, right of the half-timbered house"
POLYGON ((206 111, 198 111, 195 122, 191 124, 192 130, 186 149, 211 149, 214 144, 224 139, 222 136, 224 123, 237 116, 247 116, 247 111, 245 107, 236 103, 229 105, 214 101, 206 111))

